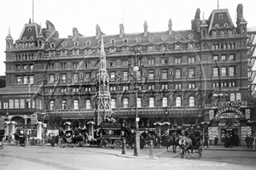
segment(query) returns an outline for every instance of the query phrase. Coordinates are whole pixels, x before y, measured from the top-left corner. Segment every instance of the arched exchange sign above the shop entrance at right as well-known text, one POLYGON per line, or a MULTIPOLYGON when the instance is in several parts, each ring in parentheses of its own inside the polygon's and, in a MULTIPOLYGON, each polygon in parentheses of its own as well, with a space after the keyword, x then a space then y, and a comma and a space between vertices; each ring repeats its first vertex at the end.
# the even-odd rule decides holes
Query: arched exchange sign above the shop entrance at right
POLYGON ((225 107, 219 109, 214 119, 226 119, 226 118, 245 118, 245 115, 235 107, 225 107))

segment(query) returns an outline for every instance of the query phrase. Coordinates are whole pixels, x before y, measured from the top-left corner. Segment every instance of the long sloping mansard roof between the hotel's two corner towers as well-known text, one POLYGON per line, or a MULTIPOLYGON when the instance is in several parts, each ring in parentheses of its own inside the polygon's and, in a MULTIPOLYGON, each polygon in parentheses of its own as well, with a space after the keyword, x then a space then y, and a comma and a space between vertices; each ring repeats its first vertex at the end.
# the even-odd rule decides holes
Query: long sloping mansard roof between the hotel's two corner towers
MULTIPOLYGON (((179 42, 189 42, 189 35, 193 35, 194 40, 198 41, 200 39, 200 36, 194 31, 194 30, 183 30, 183 31, 172 31, 172 34, 169 35, 169 31, 159 31, 159 32, 150 32, 148 31, 147 36, 144 36, 144 32, 138 32, 138 33, 124 33, 123 37, 119 37, 119 34, 116 35, 104 35, 104 44, 105 48, 112 45, 111 40, 114 40, 115 43, 114 46, 123 46, 125 45, 124 40, 128 40, 128 45, 135 45, 137 44, 136 39, 141 39, 141 44, 147 44, 149 43, 148 38, 153 37, 154 41, 152 43, 161 43, 161 42, 177 42, 175 40, 176 36, 180 37, 179 42), (166 41, 162 40, 162 37, 166 37, 166 41)), ((45 48, 50 48, 51 43, 55 43, 55 49, 56 48, 62 48, 62 43, 67 43, 67 48, 73 48, 74 42, 79 42, 79 48, 85 48, 86 42, 90 42, 90 47, 100 47, 100 39, 96 39, 95 36, 93 37, 77 37, 75 40, 73 37, 65 37, 65 38, 53 38, 51 41, 49 41, 47 44, 45 44, 45 48)))

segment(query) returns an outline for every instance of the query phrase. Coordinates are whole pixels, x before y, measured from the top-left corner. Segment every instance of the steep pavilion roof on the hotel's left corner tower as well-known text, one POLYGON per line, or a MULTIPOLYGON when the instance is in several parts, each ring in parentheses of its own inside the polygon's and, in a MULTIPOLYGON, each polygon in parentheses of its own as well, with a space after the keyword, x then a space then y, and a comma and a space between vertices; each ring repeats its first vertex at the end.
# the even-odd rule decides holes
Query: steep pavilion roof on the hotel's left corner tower
POLYGON ((40 26, 38 26, 38 24, 36 23, 25 24, 18 40, 25 41, 25 39, 29 40, 31 39, 31 37, 33 37, 33 40, 37 40, 39 31, 40 31, 40 26))

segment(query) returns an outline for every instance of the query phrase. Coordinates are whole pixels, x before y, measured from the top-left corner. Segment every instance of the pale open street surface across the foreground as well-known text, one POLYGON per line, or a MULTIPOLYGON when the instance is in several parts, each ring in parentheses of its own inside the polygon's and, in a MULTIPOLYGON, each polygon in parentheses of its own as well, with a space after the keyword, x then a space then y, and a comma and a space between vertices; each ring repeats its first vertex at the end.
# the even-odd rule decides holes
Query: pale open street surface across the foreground
POLYGON ((256 151, 246 146, 224 148, 223 145, 204 148, 201 159, 194 153, 194 158, 186 156, 182 159, 172 149, 154 149, 154 156, 149 156, 149 149, 139 150, 139 156, 133 156, 134 150, 127 149, 125 156, 121 149, 89 147, 59 148, 46 145, 20 147, 5 145, 0 150, 0 169, 242 169, 256 167, 256 151))

